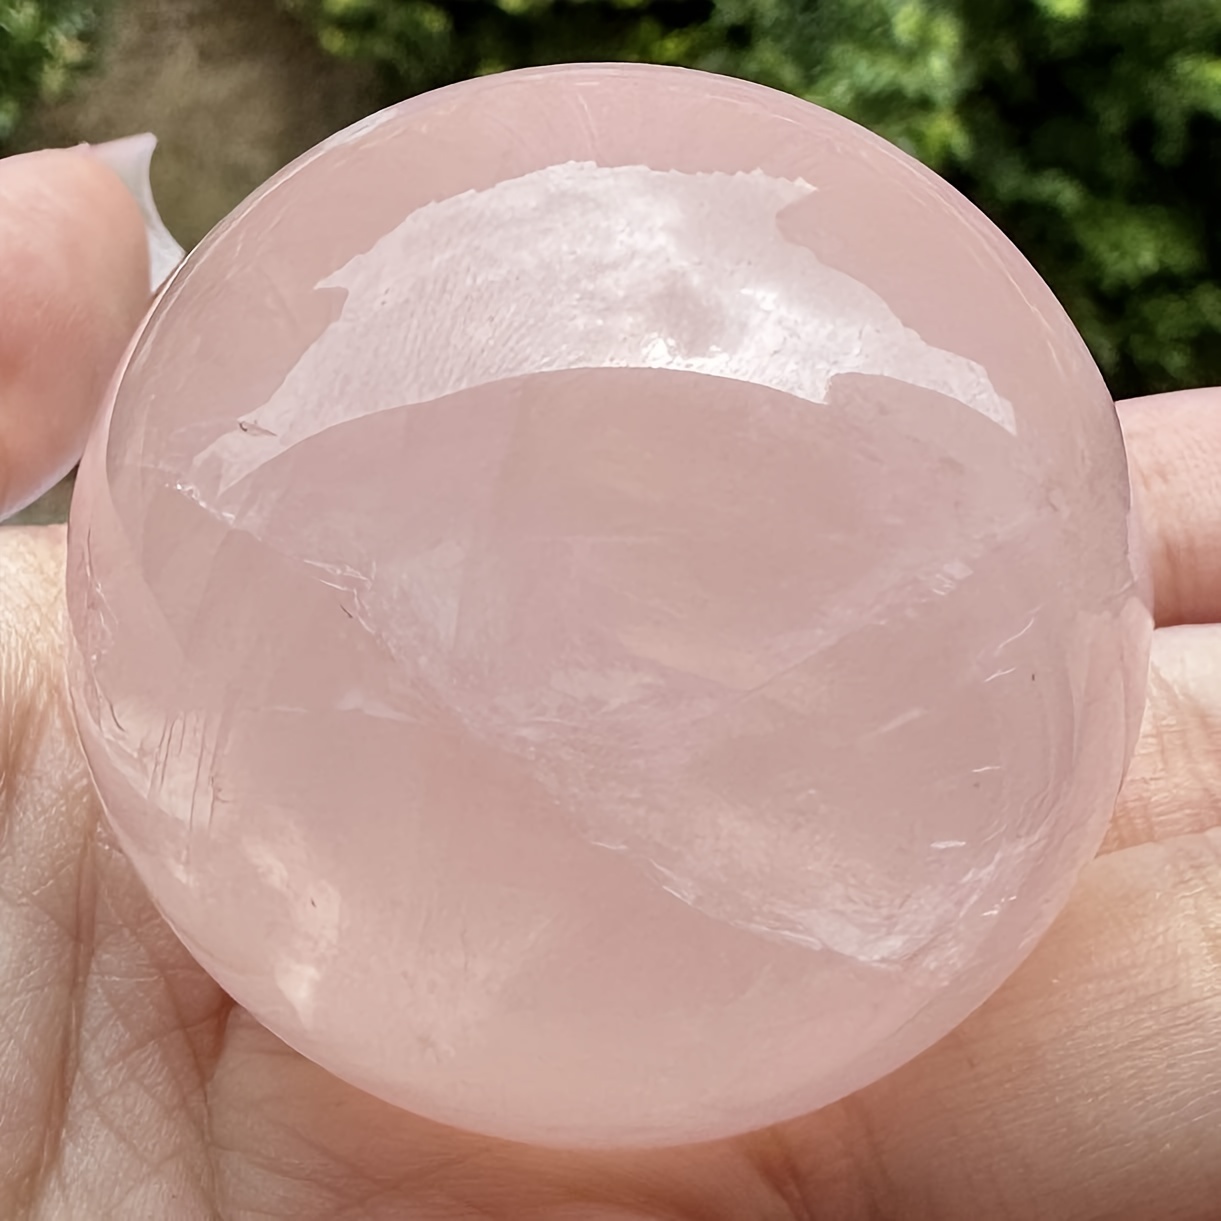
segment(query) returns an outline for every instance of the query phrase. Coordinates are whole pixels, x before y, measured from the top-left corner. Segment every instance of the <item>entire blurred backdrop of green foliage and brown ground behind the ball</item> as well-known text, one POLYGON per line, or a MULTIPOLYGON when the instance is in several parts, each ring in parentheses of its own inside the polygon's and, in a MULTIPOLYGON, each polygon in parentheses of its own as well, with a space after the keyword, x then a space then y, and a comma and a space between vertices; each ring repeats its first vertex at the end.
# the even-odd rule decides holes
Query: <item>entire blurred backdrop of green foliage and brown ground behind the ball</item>
POLYGON ((1221 0, 0 0, 0 153, 153 131, 190 245, 371 110, 574 60, 838 110, 1010 234, 1116 397, 1221 383, 1221 0))

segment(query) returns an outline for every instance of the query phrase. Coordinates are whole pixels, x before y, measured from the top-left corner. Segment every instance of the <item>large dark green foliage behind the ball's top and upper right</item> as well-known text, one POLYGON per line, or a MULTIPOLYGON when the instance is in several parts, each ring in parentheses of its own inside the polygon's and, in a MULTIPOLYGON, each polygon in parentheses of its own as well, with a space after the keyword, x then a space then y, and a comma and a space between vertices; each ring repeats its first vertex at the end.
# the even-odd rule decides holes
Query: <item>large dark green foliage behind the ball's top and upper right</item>
POLYGON ((1117 394, 1221 383, 1221 0, 284 2, 396 96, 651 60, 830 106, 996 220, 1117 394))

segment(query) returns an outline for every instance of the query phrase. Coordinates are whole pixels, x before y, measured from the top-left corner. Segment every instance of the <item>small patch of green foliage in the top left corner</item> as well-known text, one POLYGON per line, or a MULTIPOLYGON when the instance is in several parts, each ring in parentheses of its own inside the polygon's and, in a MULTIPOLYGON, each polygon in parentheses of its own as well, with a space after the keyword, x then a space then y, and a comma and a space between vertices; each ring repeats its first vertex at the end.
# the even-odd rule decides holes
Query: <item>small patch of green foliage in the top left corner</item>
POLYGON ((89 61, 103 0, 0 0, 0 148, 89 61))

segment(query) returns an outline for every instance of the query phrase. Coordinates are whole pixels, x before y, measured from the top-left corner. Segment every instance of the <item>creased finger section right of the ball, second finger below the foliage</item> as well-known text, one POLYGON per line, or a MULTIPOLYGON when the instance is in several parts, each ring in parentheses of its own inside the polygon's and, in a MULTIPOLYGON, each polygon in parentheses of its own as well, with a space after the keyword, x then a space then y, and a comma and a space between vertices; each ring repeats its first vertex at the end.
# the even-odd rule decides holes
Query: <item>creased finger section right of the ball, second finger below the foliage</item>
POLYGON ((1221 628, 1154 632, 1136 752, 1100 852, 1221 825, 1221 628))

